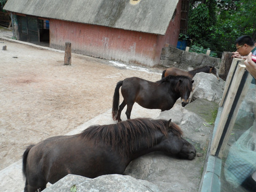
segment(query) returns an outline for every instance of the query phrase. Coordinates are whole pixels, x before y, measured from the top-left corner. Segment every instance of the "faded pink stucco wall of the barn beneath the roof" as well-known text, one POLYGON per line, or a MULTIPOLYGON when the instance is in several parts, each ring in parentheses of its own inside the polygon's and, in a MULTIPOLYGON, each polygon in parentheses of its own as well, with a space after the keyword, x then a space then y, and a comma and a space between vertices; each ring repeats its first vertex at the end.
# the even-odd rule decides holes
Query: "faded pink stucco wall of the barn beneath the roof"
POLYGON ((181 1, 177 6, 177 15, 164 36, 50 19, 50 47, 64 50, 65 42, 71 42, 75 53, 155 66, 159 64, 166 43, 177 45, 180 4, 181 1))

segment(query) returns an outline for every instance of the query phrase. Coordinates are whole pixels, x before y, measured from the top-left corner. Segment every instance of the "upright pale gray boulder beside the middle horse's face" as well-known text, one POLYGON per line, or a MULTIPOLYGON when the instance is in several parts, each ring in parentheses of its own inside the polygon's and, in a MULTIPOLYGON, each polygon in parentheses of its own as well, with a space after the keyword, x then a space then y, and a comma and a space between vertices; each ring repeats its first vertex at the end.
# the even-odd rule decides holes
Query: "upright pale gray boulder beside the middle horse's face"
POLYGON ((219 103, 222 98, 225 82, 213 74, 197 73, 194 78, 193 92, 190 94, 191 101, 198 98, 207 99, 219 103))

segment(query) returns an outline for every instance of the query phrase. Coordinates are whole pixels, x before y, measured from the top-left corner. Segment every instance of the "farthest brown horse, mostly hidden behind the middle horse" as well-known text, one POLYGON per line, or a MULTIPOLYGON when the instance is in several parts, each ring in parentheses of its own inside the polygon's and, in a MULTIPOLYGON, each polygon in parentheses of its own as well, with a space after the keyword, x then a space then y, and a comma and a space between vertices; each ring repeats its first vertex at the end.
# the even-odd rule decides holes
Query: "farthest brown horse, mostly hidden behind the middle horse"
POLYGON ((196 68, 190 71, 183 71, 181 69, 171 67, 163 71, 162 78, 167 77, 169 75, 172 75, 172 76, 184 75, 184 76, 193 78, 197 73, 200 73, 200 72, 214 74, 219 79, 217 74, 217 69, 212 66, 204 66, 204 67, 196 68))

